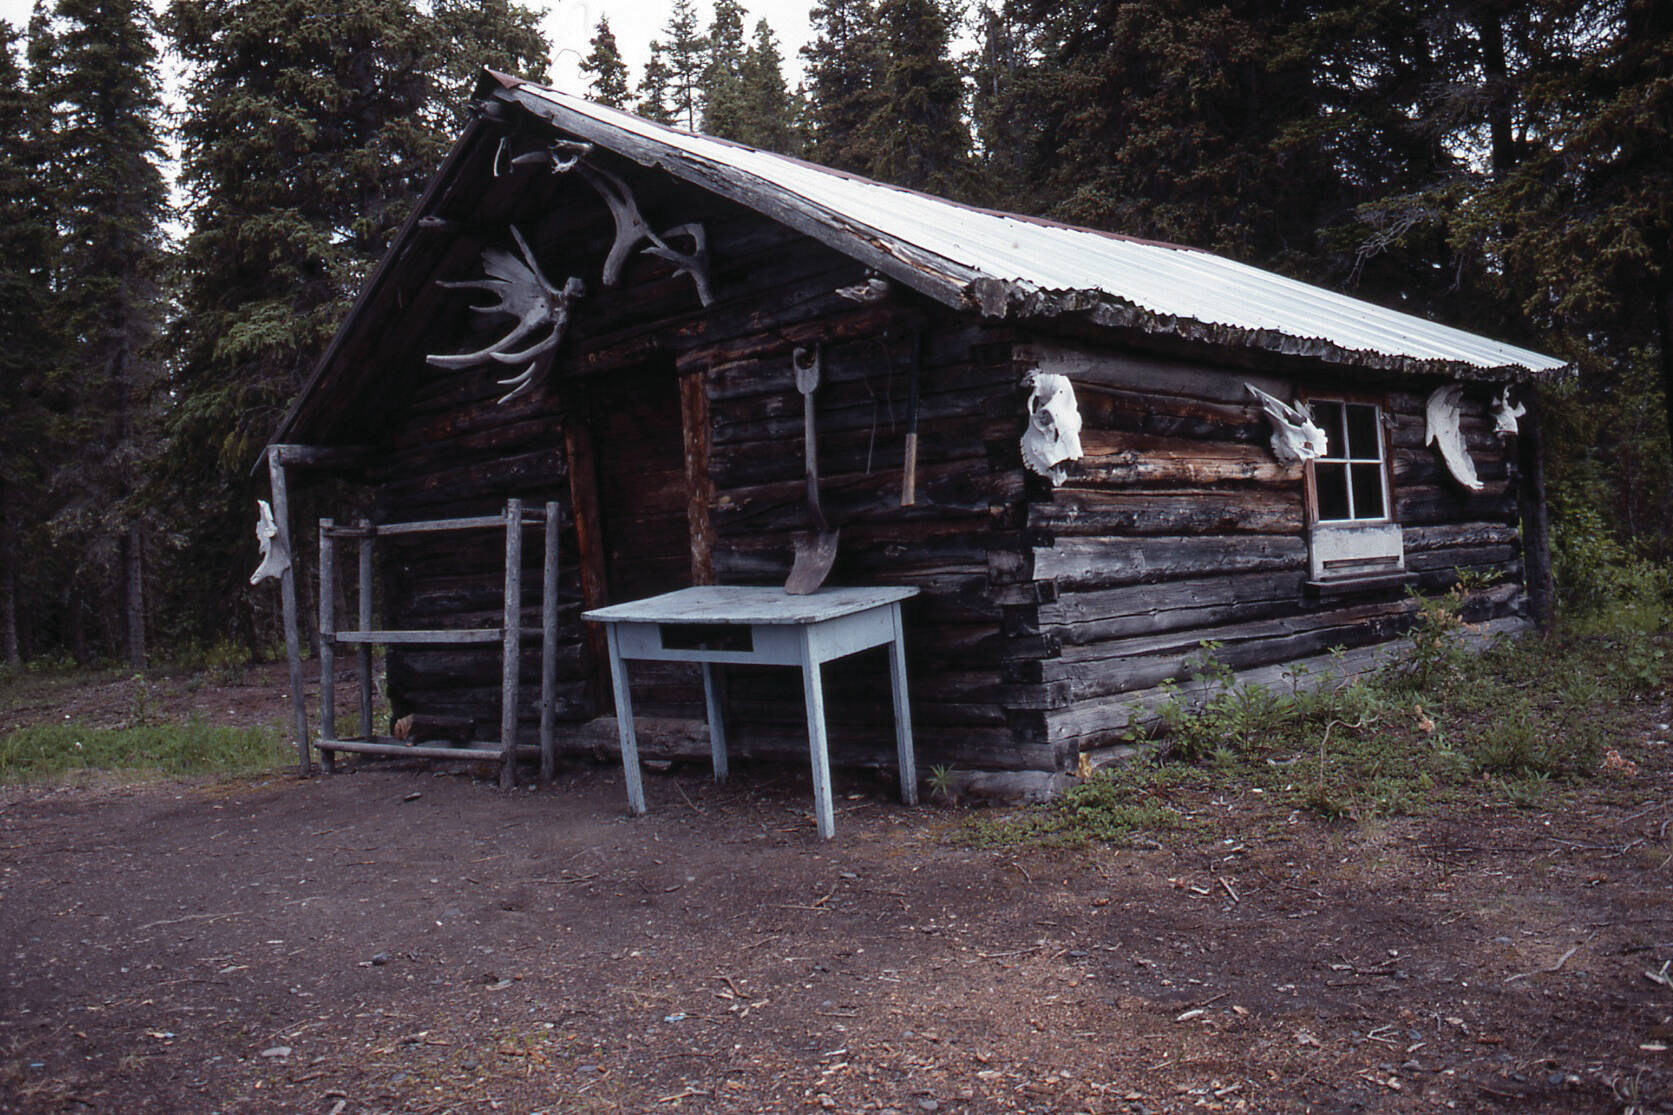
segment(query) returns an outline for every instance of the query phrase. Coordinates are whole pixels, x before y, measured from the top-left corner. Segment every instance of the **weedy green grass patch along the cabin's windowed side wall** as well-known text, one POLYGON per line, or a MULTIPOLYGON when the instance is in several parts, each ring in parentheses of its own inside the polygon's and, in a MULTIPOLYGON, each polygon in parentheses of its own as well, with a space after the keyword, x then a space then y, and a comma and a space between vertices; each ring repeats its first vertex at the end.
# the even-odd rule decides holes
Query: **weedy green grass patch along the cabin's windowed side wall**
POLYGON ((1347 822, 1558 807, 1606 752, 1631 750, 1640 710, 1673 685, 1673 635, 1589 628, 1472 655, 1459 646, 1462 599, 1422 604, 1415 651, 1348 683, 1233 685, 1205 645, 1186 661, 1201 688, 1174 686, 1159 710, 1161 760, 1099 772, 1047 805, 972 817, 965 834, 1051 845, 1178 835, 1191 827, 1190 795, 1203 792, 1260 790, 1280 814, 1347 822))

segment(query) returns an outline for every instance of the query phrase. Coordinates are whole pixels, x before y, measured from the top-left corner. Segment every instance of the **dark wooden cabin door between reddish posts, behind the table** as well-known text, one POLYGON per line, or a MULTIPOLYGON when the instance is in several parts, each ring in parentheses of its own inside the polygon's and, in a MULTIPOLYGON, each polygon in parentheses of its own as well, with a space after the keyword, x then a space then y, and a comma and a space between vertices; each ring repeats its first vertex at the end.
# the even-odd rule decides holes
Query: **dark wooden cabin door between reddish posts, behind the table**
MULTIPOLYGON (((693 554, 699 547, 693 541, 691 491, 693 480, 706 474, 706 462, 698 472, 688 462, 686 425, 696 415, 683 414, 691 407, 681 403, 674 368, 651 363, 592 377, 579 395, 572 414, 584 415, 584 429, 565 440, 586 604, 619 604, 693 584, 701 571, 694 574, 699 563, 693 554), (587 455, 591 469, 579 459, 587 455)), ((708 444, 708 437, 698 440, 708 444)), ((699 502, 706 517, 706 501, 699 502)), ((589 626, 594 707, 602 713, 612 703, 609 663, 597 626, 589 626)), ((644 715, 703 715, 701 680, 693 666, 634 663, 632 683, 634 705, 644 715)))

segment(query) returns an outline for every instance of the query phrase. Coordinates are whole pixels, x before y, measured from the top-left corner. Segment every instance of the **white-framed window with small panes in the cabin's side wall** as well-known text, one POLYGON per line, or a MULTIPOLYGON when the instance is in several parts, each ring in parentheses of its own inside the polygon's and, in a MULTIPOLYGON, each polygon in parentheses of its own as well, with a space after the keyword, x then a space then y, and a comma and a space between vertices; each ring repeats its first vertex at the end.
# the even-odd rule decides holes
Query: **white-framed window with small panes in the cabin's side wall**
POLYGON ((1307 403, 1325 432, 1325 452, 1307 462, 1310 578, 1328 584, 1404 574, 1382 405, 1352 397, 1307 403))

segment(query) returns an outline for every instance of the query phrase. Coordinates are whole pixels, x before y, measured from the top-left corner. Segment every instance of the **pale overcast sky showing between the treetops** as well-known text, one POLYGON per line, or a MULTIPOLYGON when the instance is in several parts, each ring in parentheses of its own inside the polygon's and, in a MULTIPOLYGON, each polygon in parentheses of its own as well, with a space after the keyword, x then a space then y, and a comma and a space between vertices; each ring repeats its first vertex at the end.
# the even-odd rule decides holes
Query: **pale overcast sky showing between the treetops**
MULTIPOLYGON (((599 18, 609 18, 611 32, 621 44, 622 55, 632 70, 637 84, 644 69, 646 45, 663 33, 668 25, 671 0, 524 0, 532 8, 545 8, 545 37, 552 42, 552 79, 565 92, 586 94, 587 85, 576 69, 592 30, 599 18)), ((28 23, 28 12, 33 0, 0 0, 0 18, 13 27, 23 28, 28 23)), ((801 72, 800 49, 808 40, 808 10, 813 0, 753 0, 744 3, 750 12, 744 25, 746 32, 755 30, 755 22, 765 18, 778 37, 780 52, 785 55, 785 77, 793 87, 801 72)), ((698 17, 708 25, 713 12, 713 0, 696 0, 698 17)))

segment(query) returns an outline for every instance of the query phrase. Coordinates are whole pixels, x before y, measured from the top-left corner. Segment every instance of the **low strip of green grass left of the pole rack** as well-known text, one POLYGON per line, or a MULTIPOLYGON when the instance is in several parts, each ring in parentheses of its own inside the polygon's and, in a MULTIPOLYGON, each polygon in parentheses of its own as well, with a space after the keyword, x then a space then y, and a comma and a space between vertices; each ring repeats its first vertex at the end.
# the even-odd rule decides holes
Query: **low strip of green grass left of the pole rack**
POLYGON ((249 773, 279 765, 288 750, 278 728, 231 728, 199 720, 125 728, 33 725, 0 737, 0 782, 33 782, 80 770, 249 773))

